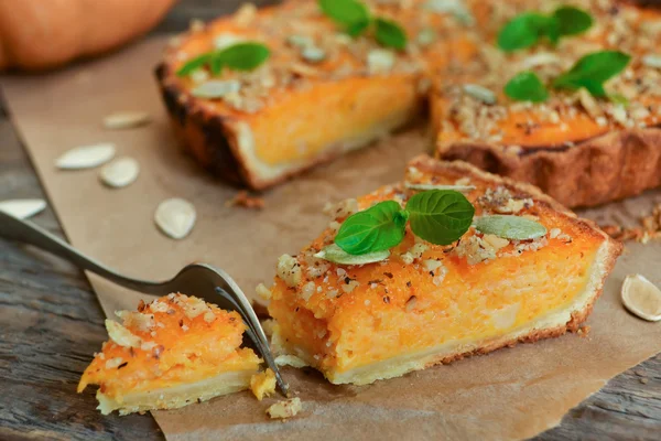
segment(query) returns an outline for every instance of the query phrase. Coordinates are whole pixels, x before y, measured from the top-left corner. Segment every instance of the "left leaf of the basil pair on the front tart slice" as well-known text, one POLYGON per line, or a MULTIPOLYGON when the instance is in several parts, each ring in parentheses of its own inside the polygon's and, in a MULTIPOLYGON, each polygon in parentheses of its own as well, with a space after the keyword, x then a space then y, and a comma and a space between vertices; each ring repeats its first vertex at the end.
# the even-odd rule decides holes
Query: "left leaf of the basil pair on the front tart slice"
POLYGON ((347 217, 339 227, 335 244, 350 255, 382 251, 404 238, 408 214, 394 201, 377 205, 347 217))

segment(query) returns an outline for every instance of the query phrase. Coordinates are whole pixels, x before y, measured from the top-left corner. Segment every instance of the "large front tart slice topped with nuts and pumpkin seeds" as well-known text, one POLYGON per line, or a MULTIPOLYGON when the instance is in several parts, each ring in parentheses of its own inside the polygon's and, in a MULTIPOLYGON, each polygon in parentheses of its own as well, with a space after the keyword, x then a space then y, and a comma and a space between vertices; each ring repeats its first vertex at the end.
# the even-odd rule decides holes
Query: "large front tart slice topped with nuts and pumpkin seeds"
POLYGON ((427 157, 410 163, 404 183, 333 214, 299 256, 281 257, 269 311, 284 351, 334 384, 369 384, 576 331, 621 248, 531 185, 427 157), (333 255, 346 216, 382 201, 408 207, 430 189, 465 192, 477 228, 434 245, 409 225, 384 254, 333 255))

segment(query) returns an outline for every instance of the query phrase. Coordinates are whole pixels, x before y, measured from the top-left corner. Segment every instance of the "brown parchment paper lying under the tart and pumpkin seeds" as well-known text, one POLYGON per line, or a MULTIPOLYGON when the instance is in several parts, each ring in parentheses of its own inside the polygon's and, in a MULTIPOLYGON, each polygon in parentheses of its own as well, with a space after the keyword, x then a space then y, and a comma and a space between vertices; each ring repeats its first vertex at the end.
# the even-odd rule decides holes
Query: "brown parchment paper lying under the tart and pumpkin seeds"
MULTIPOLYGON (((425 149, 423 129, 383 140, 268 192, 262 212, 227 208, 236 190, 202 172, 175 146, 156 93, 152 67, 163 41, 151 40, 94 63, 47 76, 1 79, 11 116, 74 246, 127 275, 163 279, 191 261, 226 269, 252 295, 269 282, 283 252, 294 254, 327 218, 322 207, 401 179, 405 161, 425 149), (101 118, 145 110, 152 125, 107 131, 101 118), (141 164, 122 190, 98 181, 98 170, 62 172, 54 159, 69 148, 110 141, 141 164), (166 197, 192 201, 198 223, 185 240, 153 224, 166 197)), ((587 213, 633 222, 659 193, 587 213)), ((518 345, 372 386, 333 386, 314 372, 286 368, 304 402, 300 417, 269 421, 266 408, 240 392, 176 411, 154 412, 169 440, 198 439, 523 439, 557 424, 563 415, 620 372, 661 349, 661 324, 628 314, 619 301, 627 273, 661 283, 661 244, 627 244, 588 324, 587 337, 565 335, 518 345)), ((107 314, 140 299, 90 277, 107 314)), ((99 342, 100 343, 100 342, 99 342)), ((90 354, 91 356, 91 354, 90 354)))

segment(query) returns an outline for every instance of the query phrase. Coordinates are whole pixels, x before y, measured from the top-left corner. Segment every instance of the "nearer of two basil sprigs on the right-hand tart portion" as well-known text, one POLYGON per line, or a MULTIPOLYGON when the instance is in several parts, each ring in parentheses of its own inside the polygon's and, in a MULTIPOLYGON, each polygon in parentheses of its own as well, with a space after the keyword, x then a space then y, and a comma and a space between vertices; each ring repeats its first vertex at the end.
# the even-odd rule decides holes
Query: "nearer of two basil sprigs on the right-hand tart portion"
MULTIPOLYGON (((551 85, 556 89, 570 90, 585 87, 594 97, 608 97, 618 101, 621 98, 617 95, 608 95, 604 89, 604 83, 621 73, 630 61, 631 56, 619 51, 594 52, 578 60, 571 69, 554 78, 551 85)), ((503 92, 518 101, 542 103, 549 98, 546 87, 540 77, 530 71, 514 75, 505 85, 503 92)))

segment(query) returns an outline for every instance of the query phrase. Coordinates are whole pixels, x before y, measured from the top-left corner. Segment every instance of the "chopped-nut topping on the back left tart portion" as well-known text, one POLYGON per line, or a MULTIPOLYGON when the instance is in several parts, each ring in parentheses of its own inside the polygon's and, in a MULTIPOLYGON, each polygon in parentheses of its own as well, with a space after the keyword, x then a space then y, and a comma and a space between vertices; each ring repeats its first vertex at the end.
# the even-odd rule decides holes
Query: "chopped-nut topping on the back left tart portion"
MULTIPOLYGON (((243 6, 229 19, 206 26, 195 22, 191 35, 172 41, 167 56, 175 66, 181 66, 212 49, 239 41, 268 45, 271 56, 261 67, 252 72, 224 69, 215 77, 240 82, 239 90, 223 97, 223 101, 236 111, 254 114, 274 103, 280 93, 305 90, 318 82, 420 75, 429 64, 425 54, 438 51, 435 43, 443 37, 438 33, 465 26, 447 13, 424 8, 426 0, 364 2, 373 13, 393 19, 405 29, 409 43, 404 51, 386 50, 369 35, 350 37, 322 13, 316 1, 307 1, 285 2, 262 11, 254 6, 243 6), (438 32, 432 34, 430 28, 438 32)), ((199 69, 192 77, 192 82, 204 84, 209 79, 209 72, 199 69)))

